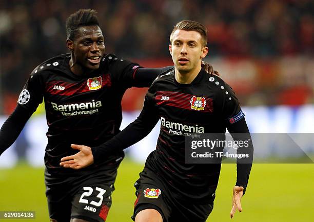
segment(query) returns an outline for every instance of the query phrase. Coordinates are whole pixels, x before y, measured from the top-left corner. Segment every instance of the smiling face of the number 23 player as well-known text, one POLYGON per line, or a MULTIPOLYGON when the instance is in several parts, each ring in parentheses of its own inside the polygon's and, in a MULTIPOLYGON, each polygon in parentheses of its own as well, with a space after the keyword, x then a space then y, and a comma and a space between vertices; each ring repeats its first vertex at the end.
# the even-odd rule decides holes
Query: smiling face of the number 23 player
POLYGON ((99 69, 105 52, 104 35, 99 26, 82 26, 73 41, 67 39, 71 52, 69 65, 76 75, 87 75, 99 69))

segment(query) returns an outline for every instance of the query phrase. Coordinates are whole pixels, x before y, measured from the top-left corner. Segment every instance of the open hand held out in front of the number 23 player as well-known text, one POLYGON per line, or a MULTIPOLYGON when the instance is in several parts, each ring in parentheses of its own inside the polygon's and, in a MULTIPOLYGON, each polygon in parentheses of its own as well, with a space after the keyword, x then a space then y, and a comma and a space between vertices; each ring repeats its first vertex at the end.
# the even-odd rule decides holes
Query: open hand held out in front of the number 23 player
POLYGON ((91 148, 83 145, 71 144, 71 147, 75 150, 80 150, 80 152, 72 155, 65 156, 61 159, 60 166, 64 168, 72 168, 75 170, 88 167, 94 163, 94 157, 91 152, 91 148))

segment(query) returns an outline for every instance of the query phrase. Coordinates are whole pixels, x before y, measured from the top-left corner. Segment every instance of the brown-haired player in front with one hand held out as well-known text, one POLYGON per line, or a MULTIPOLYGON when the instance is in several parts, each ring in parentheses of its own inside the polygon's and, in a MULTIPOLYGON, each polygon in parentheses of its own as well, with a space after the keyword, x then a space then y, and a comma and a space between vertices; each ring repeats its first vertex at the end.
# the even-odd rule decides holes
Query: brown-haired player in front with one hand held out
MULTIPOLYGON (((81 151, 61 159, 61 166, 81 169, 102 163, 110 153, 144 138, 161 120, 156 150, 147 158, 135 183, 136 222, 204 222, 213 209, 221 164, 186 164, 185 136, 190 133, 249 133, 239 101, 221 78, 208 78, 201 60, 208 53, 207 30, 194 21, 181 21, 170 35, 174 69, 160 75, 149 88, 140 116, 101 146, 72 145, 81 151)), ((249 136, 249 134, 248 134, 249 136)), ((231 218, 242 211, 252 165, 237 159, 231 218)), ((239 150, 238 150, 239 152, 239 150)), ((242 152, 242 151, 240 151, 242 152)))

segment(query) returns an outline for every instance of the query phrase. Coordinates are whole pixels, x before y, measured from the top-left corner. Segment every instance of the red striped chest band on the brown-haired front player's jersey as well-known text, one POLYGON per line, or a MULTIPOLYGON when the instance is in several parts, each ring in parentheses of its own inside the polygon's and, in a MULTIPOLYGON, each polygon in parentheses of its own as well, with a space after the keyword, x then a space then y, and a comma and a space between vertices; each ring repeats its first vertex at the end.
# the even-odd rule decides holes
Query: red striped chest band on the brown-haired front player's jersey
MULTIPOLYGON (((193 110, 191 108, 191 99, 195 95, 181 93, 181 92, 167 92, 167 91, 158 91, 156 92, 155 100, 157 105, 166 105, 178 107, 181 109, 193 110)), ((202 97, 202 96, 197 96, 202 97)), ((213 112, 213 100, 212 98, 206 99, 206 105, 204 110, 198 110, 201 112, 213 112)))

